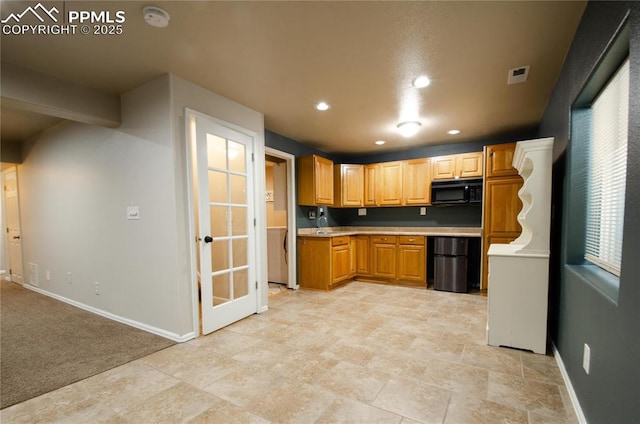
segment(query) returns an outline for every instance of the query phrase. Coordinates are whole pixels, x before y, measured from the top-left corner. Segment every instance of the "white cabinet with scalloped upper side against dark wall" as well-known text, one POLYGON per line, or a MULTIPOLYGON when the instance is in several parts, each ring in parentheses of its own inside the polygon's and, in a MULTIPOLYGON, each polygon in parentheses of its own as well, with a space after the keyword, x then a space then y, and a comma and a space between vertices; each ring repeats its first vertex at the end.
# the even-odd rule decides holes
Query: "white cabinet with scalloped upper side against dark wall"
POLYGON ((513 166, 524 183, 520 237, 489 247, 487 341, 545 354, 549 291, 553 138, 516 144, 513 166))

